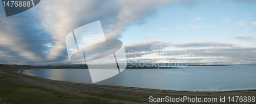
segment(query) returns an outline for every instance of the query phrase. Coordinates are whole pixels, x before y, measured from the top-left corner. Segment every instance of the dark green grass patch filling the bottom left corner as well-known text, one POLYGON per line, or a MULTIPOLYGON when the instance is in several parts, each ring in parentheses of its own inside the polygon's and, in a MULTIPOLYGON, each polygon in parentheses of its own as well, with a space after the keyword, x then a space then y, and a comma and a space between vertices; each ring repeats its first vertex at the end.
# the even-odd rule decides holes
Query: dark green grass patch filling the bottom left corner
MULTIPOLYGON (((2 75, 1 75, 2 76, 2 75)), ((1 81, 1 80, 0 80, 1 81)), ((32 85, 0 83, 0 98, 8 103, 108 103, 93 97, 79 97, 32 85)))

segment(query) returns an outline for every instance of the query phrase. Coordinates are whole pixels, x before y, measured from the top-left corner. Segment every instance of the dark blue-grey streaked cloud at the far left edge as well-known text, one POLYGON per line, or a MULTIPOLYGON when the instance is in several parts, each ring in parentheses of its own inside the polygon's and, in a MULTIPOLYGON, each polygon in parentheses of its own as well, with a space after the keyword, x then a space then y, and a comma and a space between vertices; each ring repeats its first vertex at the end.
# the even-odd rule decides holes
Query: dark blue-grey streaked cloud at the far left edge
MULTIPOLYGON (((0 14, 5 15, 2 10, 0 14)), ((50 33, 42 29, 41 18, 31 14, 37 13, 28 10, 10 17, 0 17, 1 63, 35 64, 49 61, 46 57, 50 47, 45 44, 54 45, 55 42, 50 33)))

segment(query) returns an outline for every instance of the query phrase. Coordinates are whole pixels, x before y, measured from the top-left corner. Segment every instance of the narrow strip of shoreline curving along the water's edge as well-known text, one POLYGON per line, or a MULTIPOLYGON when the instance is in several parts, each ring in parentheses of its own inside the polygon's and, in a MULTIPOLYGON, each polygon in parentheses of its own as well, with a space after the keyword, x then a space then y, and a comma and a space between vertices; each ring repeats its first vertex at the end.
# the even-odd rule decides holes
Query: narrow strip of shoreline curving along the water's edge
MULTIPOLYGON (((41 69, 41 68, 39 68, 41 69)), ((24 75, 32 76, 32 77, 39 77, 39 76, 34 76, 30 74, 23 73, 24 70, 26 69, 19 69, 17 71, 20 71, 18 73, 22 73, 24 75)), ((38 70, 35 69, 35 70, 38 70)), ((39 77, 41 79, 47 79, 44 77, 39 77)), ((53 80, 53 79, 47 79, 47 80, 53 80)), ((60 81, 60 80, 53 80, 53 81, 60 81)), ((60 81, 60 82, 69 82, 69 81, 60 81)), ((172 92, 202 92, 202 93, 220 93, 220 92, 248 92, 248 91, 256 91, 256 89, 242 89, 242 90, 225 90, 225 91, 193 91, 193 90, 166 90, 166 89, 154 89, 154 88, 141 88, 141 87, 132 87, 132 86, 116 86, 116 85, 100 85, 100 84, 92 84, 92 83, 79 83, 79 82, 69 82, 69 83, 75 83, 75 84, 90 84, 90 85, 99 85, 99 86, 112 86, 112 87, 124 87, 124 88, 137 88, 137 89, 150 89, 150 90, 160 90, 160 91, 172 91, 172 92)))

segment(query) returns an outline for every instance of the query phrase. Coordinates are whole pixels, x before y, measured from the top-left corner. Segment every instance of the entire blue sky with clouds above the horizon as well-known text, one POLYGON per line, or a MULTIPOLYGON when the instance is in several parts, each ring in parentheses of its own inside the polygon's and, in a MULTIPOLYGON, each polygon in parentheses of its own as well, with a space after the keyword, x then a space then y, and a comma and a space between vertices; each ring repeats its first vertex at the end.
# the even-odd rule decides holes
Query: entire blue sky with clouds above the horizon
POLYGON ((255 10, 250 0, 45 0, 6 17, 0 5, 0 64, 72 64, 65 37, 98 20, 130 62, 256 63, 255 10))

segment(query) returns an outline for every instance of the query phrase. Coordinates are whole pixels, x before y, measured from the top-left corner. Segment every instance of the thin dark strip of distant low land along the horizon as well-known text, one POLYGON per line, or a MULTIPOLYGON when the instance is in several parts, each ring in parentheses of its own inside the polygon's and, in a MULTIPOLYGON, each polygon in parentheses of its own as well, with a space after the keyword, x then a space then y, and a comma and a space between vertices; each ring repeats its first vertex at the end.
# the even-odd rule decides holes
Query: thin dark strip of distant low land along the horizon
MULTIPOLYGON (((103 65, 105 66, 105 65, 103 65)), ((128 64, 126 69, 182 68, 184 66, 256 66, 256 64, 205 64, 205 63, 163 63, 163 64, 128 64), (183 65, 183 66, 182 66, 183 65)), ((7 65, 0 64, 0 69, 88 69, 87 64, 56 64, 56 65, 7 65)))

